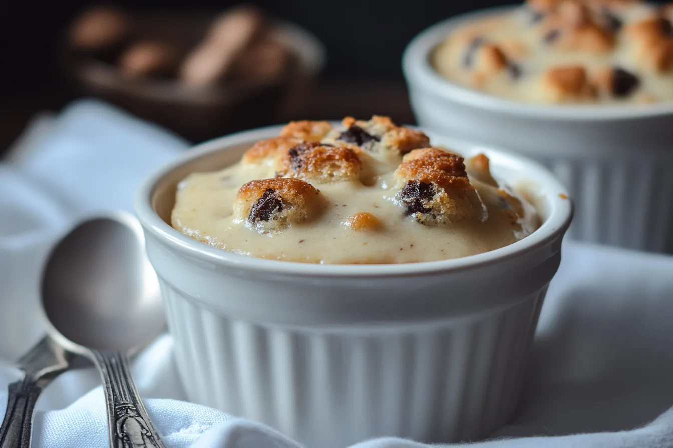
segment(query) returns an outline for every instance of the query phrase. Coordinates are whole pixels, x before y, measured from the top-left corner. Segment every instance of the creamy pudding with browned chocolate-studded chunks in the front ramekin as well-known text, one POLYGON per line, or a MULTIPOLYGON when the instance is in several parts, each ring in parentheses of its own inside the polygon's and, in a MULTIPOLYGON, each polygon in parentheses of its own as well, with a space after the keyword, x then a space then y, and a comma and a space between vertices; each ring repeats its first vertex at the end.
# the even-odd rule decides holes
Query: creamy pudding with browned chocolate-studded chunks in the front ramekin
POLYGON ((172 226, 251 257, 418 263, 493 251, 536 230, 534 208, 484 155, 432 147, 390 119, 293 122, 234 166, 178 186, 172 226))

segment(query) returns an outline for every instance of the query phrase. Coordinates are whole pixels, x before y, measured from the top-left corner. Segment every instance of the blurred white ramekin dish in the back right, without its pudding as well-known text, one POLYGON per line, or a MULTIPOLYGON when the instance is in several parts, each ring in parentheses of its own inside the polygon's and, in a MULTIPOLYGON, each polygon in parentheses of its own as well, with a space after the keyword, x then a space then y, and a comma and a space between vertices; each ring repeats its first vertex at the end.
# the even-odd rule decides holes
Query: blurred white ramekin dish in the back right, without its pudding
POLYGON ((516 103, 454 85, 432 68, 429 54, 456 26, 508 10, 442 21, 407 46, 402 69, 419 126, 520 152, 553 171, 575 201, 571 238, 673 251, 673 103, 516 103))

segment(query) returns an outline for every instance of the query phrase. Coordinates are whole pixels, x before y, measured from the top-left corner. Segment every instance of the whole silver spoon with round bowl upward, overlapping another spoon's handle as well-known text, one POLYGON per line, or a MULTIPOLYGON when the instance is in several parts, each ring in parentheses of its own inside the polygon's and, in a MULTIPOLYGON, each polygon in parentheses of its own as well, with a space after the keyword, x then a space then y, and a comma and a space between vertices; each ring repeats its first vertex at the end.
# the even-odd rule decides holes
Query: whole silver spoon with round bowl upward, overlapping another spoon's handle
POLYGON ((110 447, 163 447, 129 363, 166 325, 135 218, 122 212, 93 218, 67 234, 44 269, 42 306, 50 337, 100 371, 110 447))

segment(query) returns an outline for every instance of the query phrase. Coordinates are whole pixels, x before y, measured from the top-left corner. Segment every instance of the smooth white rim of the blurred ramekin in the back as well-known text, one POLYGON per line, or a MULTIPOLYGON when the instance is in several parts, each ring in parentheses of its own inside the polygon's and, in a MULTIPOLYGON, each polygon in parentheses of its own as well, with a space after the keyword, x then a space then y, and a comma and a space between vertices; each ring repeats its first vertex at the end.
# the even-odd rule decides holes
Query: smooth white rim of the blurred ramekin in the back
POLYGON ((407 44, 402 53, 402 72, 409 85, 434 95, 479 109, 531 120, 618 121, 673 115, 673 101, 635 105, 538 105, 481 93, 441 77, 429 62, 430 53, 456 26, 479 17, 488 17, 518 6, 481 9, 444 19, 426 28, 407 44))

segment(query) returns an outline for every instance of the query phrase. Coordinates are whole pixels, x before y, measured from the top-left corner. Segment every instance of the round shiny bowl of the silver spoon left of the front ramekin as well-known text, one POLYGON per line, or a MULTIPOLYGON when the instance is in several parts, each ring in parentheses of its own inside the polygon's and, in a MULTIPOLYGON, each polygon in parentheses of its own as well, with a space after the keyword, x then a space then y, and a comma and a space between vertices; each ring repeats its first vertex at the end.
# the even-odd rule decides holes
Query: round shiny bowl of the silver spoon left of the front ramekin
POLYGON ((133 353, 161 334, 159 285, 135 219, 97 217, 67 234, 44 269, 42 304, 75 353, 81 347, 133 353))

